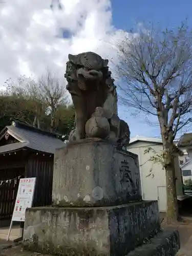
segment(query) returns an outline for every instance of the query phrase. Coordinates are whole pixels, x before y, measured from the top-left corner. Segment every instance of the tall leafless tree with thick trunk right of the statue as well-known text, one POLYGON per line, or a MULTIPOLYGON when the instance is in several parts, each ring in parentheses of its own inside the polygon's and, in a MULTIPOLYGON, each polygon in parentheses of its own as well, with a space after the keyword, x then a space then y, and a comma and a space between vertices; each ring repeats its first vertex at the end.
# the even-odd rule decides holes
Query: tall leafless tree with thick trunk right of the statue
POLYGON ((174 139, 192 121, 192 33, 185 24, 165 31, 151 26, 131 38, 125 37, 117 47, 116 71, 123 103, 158 119, 166 173, 167 222, 177 221, 174 139))

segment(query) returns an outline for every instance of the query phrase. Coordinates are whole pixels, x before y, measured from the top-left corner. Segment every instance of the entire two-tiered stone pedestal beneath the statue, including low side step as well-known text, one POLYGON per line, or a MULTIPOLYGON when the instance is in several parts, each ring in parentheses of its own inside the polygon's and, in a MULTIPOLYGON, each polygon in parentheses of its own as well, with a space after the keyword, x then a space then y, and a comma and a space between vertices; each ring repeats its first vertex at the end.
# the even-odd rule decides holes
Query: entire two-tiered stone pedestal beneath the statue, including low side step
POLYGON ((102 140, 55 154, 53 206, 26 210, 24 246, 57 255, 161 256, 179 249, 160 230, 157 201, 142 201, 137 155, 102 140))

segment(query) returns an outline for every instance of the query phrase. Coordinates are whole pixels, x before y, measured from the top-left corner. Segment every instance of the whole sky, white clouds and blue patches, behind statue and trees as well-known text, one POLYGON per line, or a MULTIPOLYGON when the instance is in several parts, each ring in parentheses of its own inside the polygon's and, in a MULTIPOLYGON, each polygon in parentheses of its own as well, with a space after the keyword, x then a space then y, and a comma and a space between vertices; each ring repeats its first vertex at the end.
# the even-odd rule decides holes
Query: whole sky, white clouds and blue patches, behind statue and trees
MULTIPOLYGON (((138 23, 159 23, 164 29, 188 18, 192 28, 191 0, 111 0, 112 10, 110 0, 59 0, 62 8, 53 0, 52 9, 51 1, 1 4, 0 90, 10 77, 32 74, 38 80, 47 67, 64 79, 69 53, 93 51, 115 60, 117 53, 108 42, 120 39, 124 34, 120 29, 137 29, 138 23)), ((119 104, 119 116, 129 123, 132 136, 160 136, 158 126, 147 125, 143 113, 133 117, 130 109, 119 104)))

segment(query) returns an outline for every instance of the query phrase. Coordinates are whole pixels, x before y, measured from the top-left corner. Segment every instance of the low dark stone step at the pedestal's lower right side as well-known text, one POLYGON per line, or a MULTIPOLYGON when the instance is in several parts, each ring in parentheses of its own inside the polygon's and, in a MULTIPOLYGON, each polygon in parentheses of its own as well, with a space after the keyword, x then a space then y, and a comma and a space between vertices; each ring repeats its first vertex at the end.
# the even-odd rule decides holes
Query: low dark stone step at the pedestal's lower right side
POLYGON ((175 256, 179 249, 179 233, 169 229, 159 232, 156 237, 126 256, 175 256))

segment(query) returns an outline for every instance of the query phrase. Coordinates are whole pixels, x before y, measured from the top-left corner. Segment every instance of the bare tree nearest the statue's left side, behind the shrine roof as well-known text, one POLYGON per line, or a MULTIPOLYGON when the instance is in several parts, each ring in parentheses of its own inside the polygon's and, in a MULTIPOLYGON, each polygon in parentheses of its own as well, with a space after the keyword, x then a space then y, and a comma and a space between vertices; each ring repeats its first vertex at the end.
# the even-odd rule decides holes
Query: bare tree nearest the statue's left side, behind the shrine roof
POLYGON ((39 79, 39 93, 48 106, 51 115, 51 131, 55 130, 55 114, 59 105, 67 104, 68 94, 64 81, 47 69, 46 76, 39 79))

